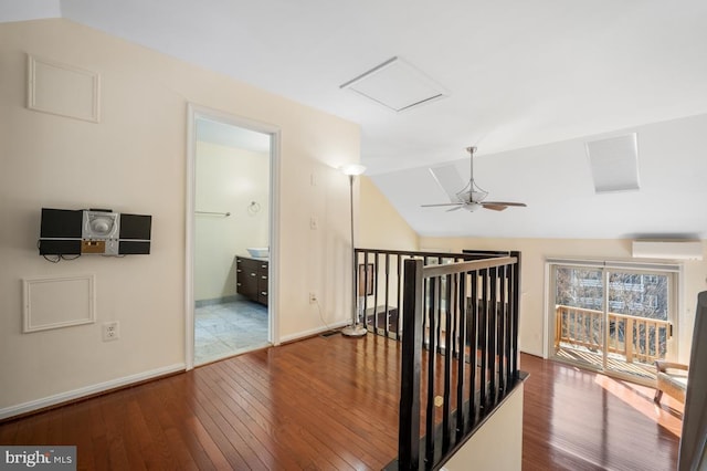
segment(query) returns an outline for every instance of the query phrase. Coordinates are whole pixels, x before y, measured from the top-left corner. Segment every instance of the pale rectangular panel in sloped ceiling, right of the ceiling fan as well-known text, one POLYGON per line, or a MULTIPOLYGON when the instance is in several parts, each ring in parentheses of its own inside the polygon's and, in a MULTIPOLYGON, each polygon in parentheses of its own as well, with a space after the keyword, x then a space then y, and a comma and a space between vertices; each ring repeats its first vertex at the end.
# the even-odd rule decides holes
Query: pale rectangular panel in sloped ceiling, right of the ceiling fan
POLYGON ((587 143, 587 156, 594 179, 594 191, 637 190, 639 145, 636 134, 587 143))

